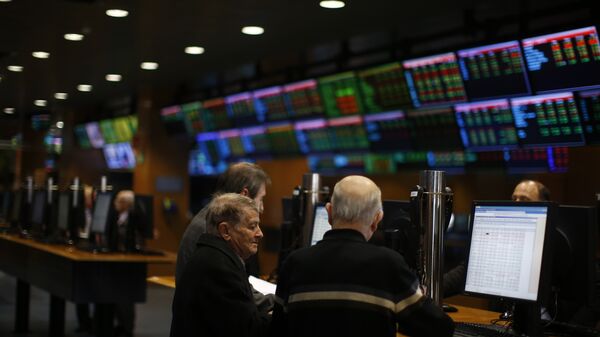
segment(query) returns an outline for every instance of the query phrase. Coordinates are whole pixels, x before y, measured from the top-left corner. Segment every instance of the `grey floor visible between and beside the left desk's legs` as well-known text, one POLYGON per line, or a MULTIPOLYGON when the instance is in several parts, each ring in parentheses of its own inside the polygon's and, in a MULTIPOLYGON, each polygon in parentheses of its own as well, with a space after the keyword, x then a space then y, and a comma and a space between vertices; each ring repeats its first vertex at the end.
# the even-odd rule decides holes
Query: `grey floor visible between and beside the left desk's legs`
MULTIPOLYGON (((13 333, 16 283, 14 277, 0 272, 0 336, 46 337, 48 335, 50 315, 50 294, 35 287, 31 287, 29 333, 13 333)), ((135 306, 136 321, 134 336, 164 337, 169 335, 171 327, 171 301, 174 291, 174 289, 158 285, 148 285, 146 303, 138 303, 135 306)), ((76 332, 77 327, 75 305, 67 302, 65 336, 91 336, 88 333, 76 332)))

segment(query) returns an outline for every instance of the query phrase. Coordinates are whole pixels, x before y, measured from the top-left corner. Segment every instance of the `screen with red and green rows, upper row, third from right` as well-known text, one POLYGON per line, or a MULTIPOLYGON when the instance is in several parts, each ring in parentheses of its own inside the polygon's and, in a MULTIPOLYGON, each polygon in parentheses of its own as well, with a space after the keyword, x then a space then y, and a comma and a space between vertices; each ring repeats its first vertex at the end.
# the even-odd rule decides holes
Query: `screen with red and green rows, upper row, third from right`
POLYGON ((454 53, 407 60, 402 65, 415 107, 467 99, 454 53))

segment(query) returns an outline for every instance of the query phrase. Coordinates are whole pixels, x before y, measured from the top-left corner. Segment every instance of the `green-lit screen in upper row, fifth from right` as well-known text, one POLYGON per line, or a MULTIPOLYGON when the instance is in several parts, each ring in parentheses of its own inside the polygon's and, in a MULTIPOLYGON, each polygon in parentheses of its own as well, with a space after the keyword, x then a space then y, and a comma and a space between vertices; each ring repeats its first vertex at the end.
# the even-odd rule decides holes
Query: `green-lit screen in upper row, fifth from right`
POLYGON ((358 79, 354 72, 320 78, 319 88, 327 117, 351 116, 363 112, 358 79))

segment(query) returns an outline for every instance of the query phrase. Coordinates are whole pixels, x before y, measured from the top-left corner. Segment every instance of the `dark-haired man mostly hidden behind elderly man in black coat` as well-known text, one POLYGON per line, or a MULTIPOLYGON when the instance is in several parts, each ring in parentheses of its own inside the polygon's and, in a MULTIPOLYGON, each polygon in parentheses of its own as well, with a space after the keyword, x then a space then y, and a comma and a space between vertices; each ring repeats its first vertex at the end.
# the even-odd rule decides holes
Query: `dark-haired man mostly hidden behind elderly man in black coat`
MULTIPOLYGON (((267 185, 271 179, 260 166, 252 163, 240 162, 229 166, 227 170, 219 176, 215 195, 223 193, 238 193, 254 200, 260 213, 263 211, 263 198, 266 195, 267 185)), ((196 244, 200 236, 206 233, 206 213, 207 207, 204 207, 192 219, 187 229, 183 233, 177 252, 177 265, 175 267, 175 283, 179 283, 181 273, 191 256, 196 250, 196 244)), ((254 257, 255 258, 255 257, 254 257)), ((246 262, 248 264, 248 262, 246 262)), ((246 266, 246 270, 248 270, 246 266)), ((258 268, 256 268, 258 269, 258 268)), ((258 271, 255 271, 258 273, 258 271)), ((252 273, 251 273, 252 274, 252 273)), ((254 291, 254 300, 262 312, 269 312, 273 308, 273 295, 263 295, 254 291)))

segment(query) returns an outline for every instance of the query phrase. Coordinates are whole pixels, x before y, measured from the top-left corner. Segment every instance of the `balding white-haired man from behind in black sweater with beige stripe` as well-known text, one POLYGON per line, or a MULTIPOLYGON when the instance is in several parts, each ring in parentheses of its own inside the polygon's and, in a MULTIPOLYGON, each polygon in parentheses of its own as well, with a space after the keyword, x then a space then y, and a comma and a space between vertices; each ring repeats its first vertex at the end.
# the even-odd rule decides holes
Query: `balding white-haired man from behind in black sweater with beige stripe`
POLYGON ((283 263, 273 335, 452 336, 452 320, 421 293, 402 256, 367 243, 383 218, 377 185, 346 177, 326 208, 333 229, 283 263))

